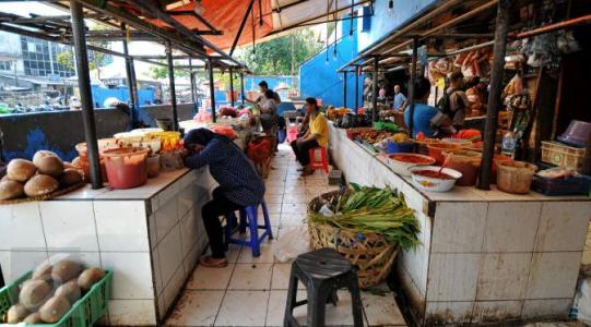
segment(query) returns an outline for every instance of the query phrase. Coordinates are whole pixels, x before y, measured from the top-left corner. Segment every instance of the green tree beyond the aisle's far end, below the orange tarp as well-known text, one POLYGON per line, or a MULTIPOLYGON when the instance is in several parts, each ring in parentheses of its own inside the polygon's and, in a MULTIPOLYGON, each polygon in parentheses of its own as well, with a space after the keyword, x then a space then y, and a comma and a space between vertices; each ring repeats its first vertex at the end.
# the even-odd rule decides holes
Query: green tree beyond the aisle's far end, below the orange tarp
POLYGON ((240 60, 257 75, 291 75, 321 48, 314 33, 305 29, 247 47, 240 60))

